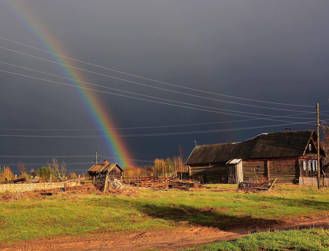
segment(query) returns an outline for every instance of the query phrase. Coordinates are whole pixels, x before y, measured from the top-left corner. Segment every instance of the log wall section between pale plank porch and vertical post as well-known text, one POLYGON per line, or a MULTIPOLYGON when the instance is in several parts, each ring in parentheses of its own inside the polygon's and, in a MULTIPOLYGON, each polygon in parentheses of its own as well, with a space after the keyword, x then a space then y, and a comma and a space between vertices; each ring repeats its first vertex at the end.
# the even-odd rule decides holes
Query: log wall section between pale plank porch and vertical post
POLYGON ((254 181, 267 177, 266 160, 243 160, 242 161, 243 179, 248 181, 252 178, 254 181))

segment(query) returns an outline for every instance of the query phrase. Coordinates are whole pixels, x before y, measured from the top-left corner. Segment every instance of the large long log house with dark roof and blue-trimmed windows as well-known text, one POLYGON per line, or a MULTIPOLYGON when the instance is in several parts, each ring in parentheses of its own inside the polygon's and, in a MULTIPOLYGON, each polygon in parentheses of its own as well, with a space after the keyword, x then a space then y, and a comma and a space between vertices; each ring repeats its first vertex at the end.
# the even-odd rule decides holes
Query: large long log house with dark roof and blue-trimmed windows
MULTIPOLYGON (((317 177, 315 130, 262 133, 239 143, 195 146, 186 163, 190 179, 238 183, 263 177, 298 183, 317 177)), ((325 158, 320 148, 320 162, 325 158)))

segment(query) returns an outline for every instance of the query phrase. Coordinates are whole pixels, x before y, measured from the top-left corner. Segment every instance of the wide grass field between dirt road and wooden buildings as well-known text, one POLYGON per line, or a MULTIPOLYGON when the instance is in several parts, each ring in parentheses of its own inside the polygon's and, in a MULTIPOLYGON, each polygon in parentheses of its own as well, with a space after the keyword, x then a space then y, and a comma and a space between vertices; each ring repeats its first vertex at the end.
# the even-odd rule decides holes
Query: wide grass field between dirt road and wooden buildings
POLYGON ((225 230, 239 222, 271 225, 280 217, 324 214, 329 209, 328 188, 320 192, 315 187, 277 185, 271 193, 244 193, 237 192, 236 185, 221 186, 193 191, 138 188, 129 196, 63 193, 0 202, 0 241, 191 225, 225 230), (231 191, 225 190, 228 187, 231 191))

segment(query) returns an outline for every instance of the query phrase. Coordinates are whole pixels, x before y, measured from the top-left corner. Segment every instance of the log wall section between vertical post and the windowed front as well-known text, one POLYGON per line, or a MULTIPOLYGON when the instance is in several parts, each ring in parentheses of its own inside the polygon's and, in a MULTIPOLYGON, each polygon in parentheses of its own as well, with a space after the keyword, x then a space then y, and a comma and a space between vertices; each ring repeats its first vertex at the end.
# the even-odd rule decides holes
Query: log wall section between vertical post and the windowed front
POLYGON ((269 160, 268 165, 270 179, 277 178, 277 182, 298 183, 300 173, 299 159, 269 160))

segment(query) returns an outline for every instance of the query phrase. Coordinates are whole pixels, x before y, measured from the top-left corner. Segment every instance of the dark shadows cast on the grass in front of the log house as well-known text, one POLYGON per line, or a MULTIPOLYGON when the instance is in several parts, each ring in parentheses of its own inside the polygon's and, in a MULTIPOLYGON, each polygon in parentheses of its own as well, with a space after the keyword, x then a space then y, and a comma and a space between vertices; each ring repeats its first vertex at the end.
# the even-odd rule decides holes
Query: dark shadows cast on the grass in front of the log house
MULTIPOLYGON (((308 206, 310 210, 328 209, 329 202, 319 202, 315 200, 298 200, 279 198, 276 203, 285 206, 308 206)), ((279 205, 279 204, 277 204, 279 205)), ((228 231, 233 229, 256 229, 270 228, 275 226, 283 226, 293 224, 294 220, 288 220, 283 217, 276 219, 257 218, 253 215, 232 215, 226 213, 228 208, 210 208, 210 207, 193 207, 187 205, 157 205, 147 203, 144 205, 135 205, 141 212, 151 217, 161 218, 168 221, 174 221, 177 224, 186 223, 192 225, 201 225, 206 227, 214 227, 220 230, 228 231)), ((262 206, 261 204, 259 206, 262 206)), ((258 210, 255 208, 255 210, 258 210)), ((297 217, 299 217, 298 215, 297 217)))

